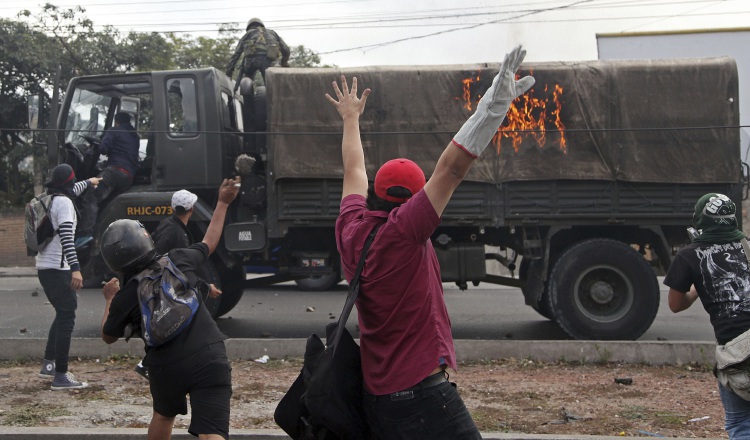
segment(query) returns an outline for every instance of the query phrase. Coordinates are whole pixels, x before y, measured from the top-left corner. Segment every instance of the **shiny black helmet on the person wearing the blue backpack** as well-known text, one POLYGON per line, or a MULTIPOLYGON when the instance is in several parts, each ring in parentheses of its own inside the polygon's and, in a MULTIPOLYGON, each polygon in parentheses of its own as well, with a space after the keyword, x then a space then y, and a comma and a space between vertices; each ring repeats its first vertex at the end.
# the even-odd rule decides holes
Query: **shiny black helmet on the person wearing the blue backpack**
POLYGON ((115 220, 102 235, 101 254, 114 272, 132 273, 156 256, 154 240, 136 220, 115 220))

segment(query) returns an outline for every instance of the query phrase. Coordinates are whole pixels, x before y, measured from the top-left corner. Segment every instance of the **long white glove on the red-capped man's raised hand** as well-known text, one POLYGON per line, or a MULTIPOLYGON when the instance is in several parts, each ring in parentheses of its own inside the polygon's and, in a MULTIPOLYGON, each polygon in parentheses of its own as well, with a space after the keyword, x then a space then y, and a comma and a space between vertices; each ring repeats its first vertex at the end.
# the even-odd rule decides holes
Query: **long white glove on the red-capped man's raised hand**
POLYGON ((503 65, 492 85, 479 100, 477 111, 464 123, 453 137, 453 143, 472 157, 479 157, 500 128, 505 114, 514 99, 526 93, 534 85, 534 78, 526 76, 516 81, 516 71, 526 56, 526 51, 517 46, 505 55, 503 65))

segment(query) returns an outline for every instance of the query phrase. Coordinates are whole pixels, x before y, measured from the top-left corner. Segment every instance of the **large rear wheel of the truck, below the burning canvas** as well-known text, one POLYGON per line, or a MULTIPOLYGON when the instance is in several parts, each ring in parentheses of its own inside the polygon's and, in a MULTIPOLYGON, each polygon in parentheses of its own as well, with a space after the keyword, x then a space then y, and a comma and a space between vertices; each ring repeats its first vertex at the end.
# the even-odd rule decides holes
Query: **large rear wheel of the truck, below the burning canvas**
POLYGON ((574 339, 635 340, 656 318, 659 284, 633 248, 592 239, 560 256, 550 275, 548 304, 574 339))

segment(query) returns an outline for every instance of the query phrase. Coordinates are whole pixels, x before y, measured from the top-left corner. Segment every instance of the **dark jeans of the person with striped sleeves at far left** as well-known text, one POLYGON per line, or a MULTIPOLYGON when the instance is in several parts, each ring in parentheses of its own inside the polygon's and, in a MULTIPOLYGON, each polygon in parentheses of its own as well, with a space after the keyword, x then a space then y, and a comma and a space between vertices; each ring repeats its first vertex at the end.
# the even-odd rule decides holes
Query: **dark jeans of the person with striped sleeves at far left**
POLYGON ((37 272, 44 294, 55 309, 55 319, 49 328, 44 358, 55 361, 55 372, 68 371, 68 354, 76 320, 78 298, 70 287, 69 270, 42 269, 37 272))

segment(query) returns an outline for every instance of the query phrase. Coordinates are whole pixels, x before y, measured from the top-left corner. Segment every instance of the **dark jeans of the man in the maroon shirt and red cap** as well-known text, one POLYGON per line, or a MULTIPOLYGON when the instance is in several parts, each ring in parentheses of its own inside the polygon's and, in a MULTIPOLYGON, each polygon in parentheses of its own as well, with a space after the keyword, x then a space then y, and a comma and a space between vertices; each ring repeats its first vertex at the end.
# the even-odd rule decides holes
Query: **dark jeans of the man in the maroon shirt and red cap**
POLYGON ((367 422, 379 440, 481 440, 456 384, 443 382, 409 393, 364 393, 367 422))

